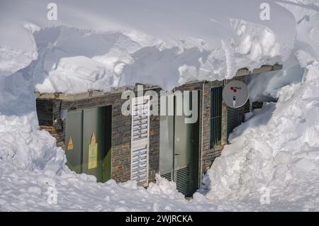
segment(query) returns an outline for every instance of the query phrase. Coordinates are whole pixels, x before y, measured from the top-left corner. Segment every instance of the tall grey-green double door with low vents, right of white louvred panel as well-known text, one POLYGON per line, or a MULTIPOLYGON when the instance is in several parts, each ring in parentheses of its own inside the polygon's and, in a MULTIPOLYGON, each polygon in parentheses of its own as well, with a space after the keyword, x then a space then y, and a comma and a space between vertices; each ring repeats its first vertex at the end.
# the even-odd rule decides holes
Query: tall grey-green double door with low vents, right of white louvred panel
MULTIPOLYGON (((184 99, 184 95, 182 96, 184 99)), ((189 104, 194 111, 191 106, 192 98, 189 98, 189 102, 183 101, 183 105, 177 104, 177 98, 179 97, 174 95, 174 115, 160 116, 159 171, 162 177, 177 183, 179 192, 191 196, 199 186, 199 123, 198 120, 196 123, 185 123, 185 118, 191 116, 186 116, 184 111, 182 115, 177 115, 177 112, 181 112, 179 108, 184 108, 184 104, 189 104)), ((168 109, 172 103, 166 101, 166 104, 168 109)))

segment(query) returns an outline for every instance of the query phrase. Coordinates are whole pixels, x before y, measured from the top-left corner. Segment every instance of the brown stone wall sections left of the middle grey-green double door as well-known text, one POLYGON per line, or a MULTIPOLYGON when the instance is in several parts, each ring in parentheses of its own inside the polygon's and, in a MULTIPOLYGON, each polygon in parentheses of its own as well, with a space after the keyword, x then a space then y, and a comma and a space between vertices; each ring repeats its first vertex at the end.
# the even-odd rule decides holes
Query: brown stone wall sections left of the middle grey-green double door
MULTIPOLYGON (((36 103, 40 129, 50 132, 57 139, 57 146, 65 149, 66 122, 60 117, 62 110, 112 106, 111 178, 118 182, 128 181, 130 180, 131 116, 121 113, 124 102, 120 92, 78 101, 38 98, 36 103)), ((159 171, 159 116, 150 118, 149 154, 149 181, 155 181, 155 174, 159 171)))

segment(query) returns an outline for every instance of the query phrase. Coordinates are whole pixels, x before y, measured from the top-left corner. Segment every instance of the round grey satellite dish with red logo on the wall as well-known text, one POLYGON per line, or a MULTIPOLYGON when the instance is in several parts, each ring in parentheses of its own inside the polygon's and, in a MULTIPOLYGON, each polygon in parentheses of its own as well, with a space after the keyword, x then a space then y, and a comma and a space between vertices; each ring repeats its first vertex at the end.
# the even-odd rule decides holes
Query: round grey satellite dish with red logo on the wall
POLYGON ((247 85, 242 81, 230 81, 223 89, 223 100, 231 108, 240 108, 248 98, 249 92, 247 85))

